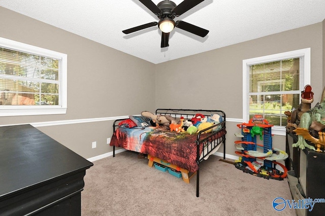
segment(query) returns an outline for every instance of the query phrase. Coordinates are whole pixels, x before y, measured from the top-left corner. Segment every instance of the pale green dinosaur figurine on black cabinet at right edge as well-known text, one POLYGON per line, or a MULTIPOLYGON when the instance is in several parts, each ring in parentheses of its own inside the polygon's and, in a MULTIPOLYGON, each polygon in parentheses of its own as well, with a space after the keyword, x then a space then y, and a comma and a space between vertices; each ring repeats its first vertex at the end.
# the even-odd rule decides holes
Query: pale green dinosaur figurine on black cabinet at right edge
POLYGON ((293 147, 299 147, 300 149, 308 148, 311 150, 315 150, 315 147, 307 144, 304 136, 301 133, 301 131, 309 131, 309 129, 313 129, 316 131, 321 131, 325 129, 325 87, 321 94, 321 102, 317 103, 315 107, 302 114, 299 128, 294 130, 295 132, 298 132, 296 132, 296 134, 298 135, 298 141, 293 144, 293 147))

